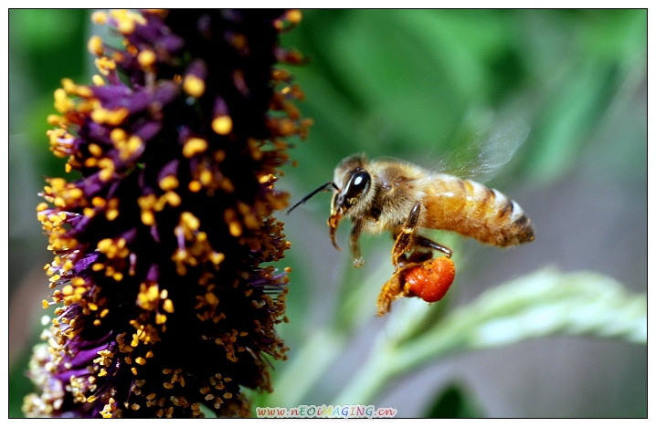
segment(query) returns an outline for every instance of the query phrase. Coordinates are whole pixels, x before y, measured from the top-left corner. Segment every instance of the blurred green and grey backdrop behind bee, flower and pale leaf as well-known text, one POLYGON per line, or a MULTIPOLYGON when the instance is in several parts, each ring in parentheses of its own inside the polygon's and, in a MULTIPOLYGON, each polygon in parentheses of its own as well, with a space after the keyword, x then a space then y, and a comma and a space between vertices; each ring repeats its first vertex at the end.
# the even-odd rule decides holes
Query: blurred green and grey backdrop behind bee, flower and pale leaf
MULTIPOLYGON (((46 117, 61 78, 90 82, 86 42, 98 29, 89 16, 9 13, 12 417, 21 416, 23 396, 32 390, 24 372, 43 328, 40 301, 48 296, 42 266, 50 255, 36 219, 37 193, 44 176, 63 175, 63 161, 48 151, 46 117)), ((291 70, 306 95, 302 113, 315 122, 309 139, 291 150, 298 166, 285 168, 279 181, 292 201, 332 179, 348 154, 396 156, 431 168, 479 130, 524 120, 531 126, 527 141, 488 183, 522 205, 536 240, 501 250, 445 237, 460 254, 449 304, 464 306, 545 266, 596 271, 646 291, 645 10, 307 10, 282 44, 308 58, 291 70)), ((279 215, 292 243, 285 260, 293 269, 290 322, 280 328, 291 351, 288 362, 275 364, 274 377, 289 366, 312 377, 312 364, 301 356, 307 343, 327 324, 342 325, 344 333, 339 342, 325 340, 334 359, 299 401, 293 383, 283 382, 256 404, 330 404, 385 325, 386 318, 374 317, 376 288, 357 299, 365 320, 338 318, 351 288, 391 274, 392 242, 365 237, 367 264, 354 270, 348 251, 330 244, 329 199, 318 194, 279 215)), ((347 247, 347 222, 342 228, 338 242, 347 247)), ((619 339, 534 339, 436 360, 361 403, 397 408, 401 417, 644 417, 647 349, 619 339)))

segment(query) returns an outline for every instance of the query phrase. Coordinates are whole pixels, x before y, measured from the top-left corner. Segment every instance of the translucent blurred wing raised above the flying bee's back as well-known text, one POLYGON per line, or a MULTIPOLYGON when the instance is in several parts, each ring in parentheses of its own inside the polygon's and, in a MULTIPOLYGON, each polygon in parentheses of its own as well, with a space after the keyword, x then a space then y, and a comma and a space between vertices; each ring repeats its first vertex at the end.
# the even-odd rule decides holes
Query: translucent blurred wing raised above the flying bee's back
POLYGON ((439 161, 440 169, 462 179, 490 181, 524 143, 531 128, 524 120, 491 125, 478 132, 465 148, 439 161))

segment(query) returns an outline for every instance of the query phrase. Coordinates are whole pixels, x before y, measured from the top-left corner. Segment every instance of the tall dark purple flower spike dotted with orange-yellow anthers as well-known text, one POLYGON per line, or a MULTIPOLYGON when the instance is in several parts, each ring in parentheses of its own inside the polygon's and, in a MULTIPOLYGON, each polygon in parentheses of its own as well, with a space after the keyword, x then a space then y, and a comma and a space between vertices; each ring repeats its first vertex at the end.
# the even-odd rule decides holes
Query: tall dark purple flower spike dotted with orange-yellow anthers
POLYGON ((90 39, 92 86, 62 80, 48 136, 79 179, 48 179, 37 206, 58 304, 37 346, 27 416, 248 416, 284 359, 289 247, 271 214, 307 134, 277 60, 298 11, 96 13, 124 46, 90 39))

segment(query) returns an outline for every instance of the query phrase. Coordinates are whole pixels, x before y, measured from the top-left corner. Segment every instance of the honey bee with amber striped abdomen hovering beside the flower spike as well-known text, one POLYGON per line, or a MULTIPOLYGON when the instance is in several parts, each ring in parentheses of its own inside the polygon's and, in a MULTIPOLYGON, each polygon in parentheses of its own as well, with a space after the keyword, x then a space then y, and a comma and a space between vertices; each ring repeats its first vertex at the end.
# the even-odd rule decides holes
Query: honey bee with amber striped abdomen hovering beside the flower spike
MULTIPOLYGON (((486 142, 483 151, 492 161, 483 158, 481 169, 493 173, 510 160, 528 130, 522 132, 524 135, 513 138, 505 151, 499 151, 503 149, 499 144, 503 134, 486 142)), ((332 182, 308 194, 288 213, 325 190, 334 191, 328 226, 335 248, 339 249, 335 233, 340 221, 344 217, 352 221, 350 244, 354 266, 364 264, 359 246, 362 233, 392 233, 395 272, 403 261, 402 255, 415 248, 428 248, 451 256, 449 247, 421 235, 422 228, 453 231, 496 246, 520 245, 534 240, 531 220, 518 203, 503 193, 479 182, 430 172, 407 161, 372 161, 365 154, 349 156, 335 168, 332 182)))

